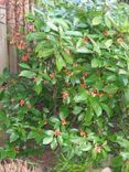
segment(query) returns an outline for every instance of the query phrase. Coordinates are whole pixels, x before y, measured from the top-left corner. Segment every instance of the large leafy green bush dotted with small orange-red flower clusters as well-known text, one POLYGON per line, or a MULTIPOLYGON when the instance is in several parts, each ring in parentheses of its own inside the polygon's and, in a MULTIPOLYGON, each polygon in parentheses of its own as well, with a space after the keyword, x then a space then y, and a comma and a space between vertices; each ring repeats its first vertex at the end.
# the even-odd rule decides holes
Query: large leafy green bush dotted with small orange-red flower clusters
POLYGON ((29 33, 18 44, 21 73, 1 84, 1 128, 15 155, 29 154, 32 141, 35 151, 50 146, 95 164, 110 153, 123 163, 129 7, 80 4, 43 1, 26 15, 29 33))

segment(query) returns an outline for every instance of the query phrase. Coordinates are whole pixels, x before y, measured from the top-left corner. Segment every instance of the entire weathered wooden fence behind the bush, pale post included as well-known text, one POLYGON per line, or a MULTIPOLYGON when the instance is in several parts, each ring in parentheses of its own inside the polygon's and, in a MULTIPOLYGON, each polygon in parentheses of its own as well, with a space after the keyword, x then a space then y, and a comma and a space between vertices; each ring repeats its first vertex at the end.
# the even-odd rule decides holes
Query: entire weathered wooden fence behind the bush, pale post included
POLYGON ((0 0, 0 74, 4 67, 18 72, 17 50, 9 36, 19 25, 25 26, 24 14, 31 9, 31 0, 0 0))

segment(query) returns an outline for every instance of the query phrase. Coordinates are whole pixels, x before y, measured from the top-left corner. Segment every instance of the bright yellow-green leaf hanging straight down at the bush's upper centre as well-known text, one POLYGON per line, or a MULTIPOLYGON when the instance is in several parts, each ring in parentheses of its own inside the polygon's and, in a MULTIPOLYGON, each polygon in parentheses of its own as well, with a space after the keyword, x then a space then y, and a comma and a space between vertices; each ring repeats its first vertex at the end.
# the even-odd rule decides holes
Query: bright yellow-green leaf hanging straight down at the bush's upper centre
POLYGON ((56 67, 57 67, 58 72, 60 72, 64 66, 66 66, 66 64, 65 64, 63 57, 61 56, 60 53, 56 53, 56 67))

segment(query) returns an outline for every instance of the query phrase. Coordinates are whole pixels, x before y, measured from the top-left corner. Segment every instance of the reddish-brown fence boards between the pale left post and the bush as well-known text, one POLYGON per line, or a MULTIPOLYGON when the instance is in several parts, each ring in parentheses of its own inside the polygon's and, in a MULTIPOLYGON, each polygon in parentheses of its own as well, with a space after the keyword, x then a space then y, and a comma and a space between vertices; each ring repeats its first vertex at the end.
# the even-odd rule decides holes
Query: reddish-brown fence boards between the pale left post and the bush
MULTIPOLYGON (((7 3, 8 34, 13 37, 14 32, 19 32, 20 24, 25 28, 24 14, 29 11, 29 0, 10 0, 7 3)), ((13 44, 8 44, 9 69, 11 73, 18 73, 18 53, 13 44)))

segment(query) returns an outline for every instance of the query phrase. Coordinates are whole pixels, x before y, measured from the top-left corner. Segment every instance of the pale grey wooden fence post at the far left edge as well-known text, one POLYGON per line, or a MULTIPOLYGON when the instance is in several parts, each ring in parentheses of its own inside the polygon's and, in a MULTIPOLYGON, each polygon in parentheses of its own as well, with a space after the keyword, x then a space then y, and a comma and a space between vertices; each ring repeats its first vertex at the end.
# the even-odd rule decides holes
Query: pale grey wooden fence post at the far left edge
POLYGON ((8 66, 6 6, 0 4, 0 74, 8 66))

